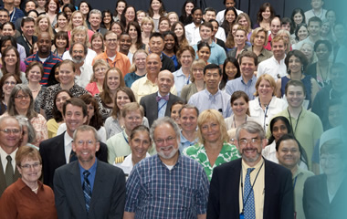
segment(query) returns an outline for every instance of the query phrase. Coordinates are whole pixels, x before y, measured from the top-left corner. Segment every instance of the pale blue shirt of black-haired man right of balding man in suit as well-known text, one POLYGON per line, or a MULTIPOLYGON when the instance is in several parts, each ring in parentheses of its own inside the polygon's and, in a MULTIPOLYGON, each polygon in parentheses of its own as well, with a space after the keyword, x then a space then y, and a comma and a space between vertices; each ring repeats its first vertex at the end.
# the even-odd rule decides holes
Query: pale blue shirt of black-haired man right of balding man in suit
POLYGON ((204 110, 218 110, 221 111, 224 118, 233 114, 230 105, 230 95, 218 89, 215 95, 208 92, 207 89, 195 93, 188 101, 188 104, 194 105, 201 113, 204 110))

